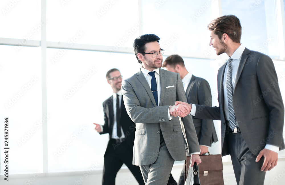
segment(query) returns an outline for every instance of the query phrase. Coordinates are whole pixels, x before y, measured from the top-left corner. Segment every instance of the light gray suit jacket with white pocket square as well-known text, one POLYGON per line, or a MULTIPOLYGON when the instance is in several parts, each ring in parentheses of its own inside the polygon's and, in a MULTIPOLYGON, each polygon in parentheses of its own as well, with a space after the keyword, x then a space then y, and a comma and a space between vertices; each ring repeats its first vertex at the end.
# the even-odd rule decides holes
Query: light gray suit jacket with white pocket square
POLYGON ((160 105, 156 106, 150 87, 141 70, 122 82, 123 97, 127 113, 136 123, 133 151, 134 165, 154 163, 158 156, 160 132, 166 147, 174 160, 185 160, 183 135, 188 143, 189 153, 200 152, 192 117, 178 117, 168 120, 168 109, 175 101, 186 101, 179 74, 159 69, 160 105), (174 86, 174 87, 172 87, 174 86), (166 88, 168 87, 168 88, 166 88))

